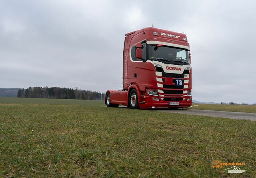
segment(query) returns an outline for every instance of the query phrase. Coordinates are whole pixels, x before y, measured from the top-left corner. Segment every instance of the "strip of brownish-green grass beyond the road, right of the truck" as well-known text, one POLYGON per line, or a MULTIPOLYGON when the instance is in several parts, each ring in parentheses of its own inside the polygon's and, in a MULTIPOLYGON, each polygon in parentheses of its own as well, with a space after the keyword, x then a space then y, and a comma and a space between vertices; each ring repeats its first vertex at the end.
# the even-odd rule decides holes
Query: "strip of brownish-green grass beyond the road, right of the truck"
POLYGON ((256 113, 256 105, 196 104, 196 103, 193 103, 192 106, 193 107, 190 109, 256 113), (197 105, 197 106, 195 106, 195 105, 197 105))

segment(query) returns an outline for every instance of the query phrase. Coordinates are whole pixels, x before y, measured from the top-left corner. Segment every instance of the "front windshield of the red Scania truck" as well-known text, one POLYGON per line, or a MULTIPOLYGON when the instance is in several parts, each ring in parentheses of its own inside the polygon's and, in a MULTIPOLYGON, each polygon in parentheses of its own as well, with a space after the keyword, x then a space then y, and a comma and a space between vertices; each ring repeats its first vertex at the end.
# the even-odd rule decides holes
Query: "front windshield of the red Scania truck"
POLYGON ((148 58, 169 64, 189 64, 188 50, 171 46, 148 45, 148 58))

